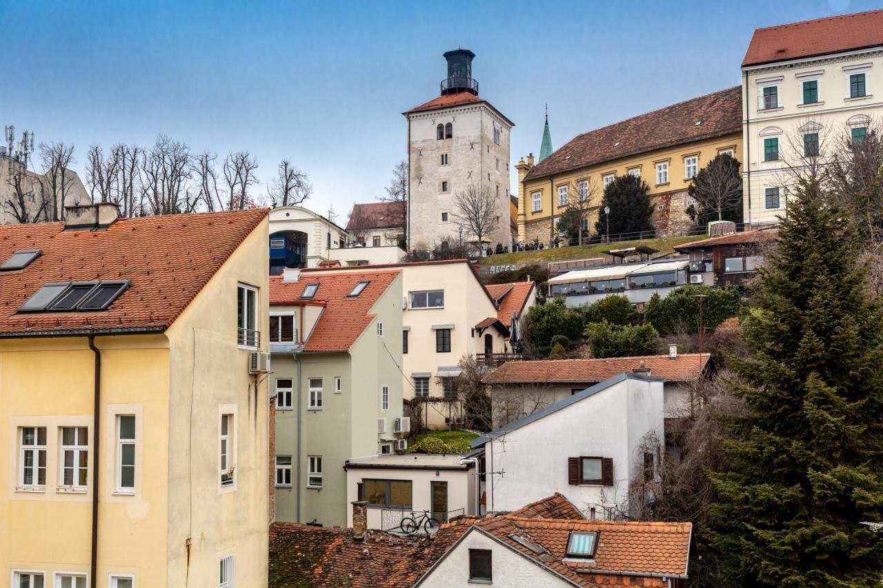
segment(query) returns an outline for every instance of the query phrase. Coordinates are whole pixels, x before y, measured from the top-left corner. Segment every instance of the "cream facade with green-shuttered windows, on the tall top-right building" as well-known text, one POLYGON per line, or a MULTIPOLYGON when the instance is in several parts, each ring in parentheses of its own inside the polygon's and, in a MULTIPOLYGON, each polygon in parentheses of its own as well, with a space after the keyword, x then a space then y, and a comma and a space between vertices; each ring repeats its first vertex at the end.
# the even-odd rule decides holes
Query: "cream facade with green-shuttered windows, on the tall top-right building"
POLYGON ((788 200, 785 190, 795 184, 794 173, 789 168, 804 164, 804 131, 801 127, 805 124, 821 125, 819 143, 822 159, 826 159, 840 148, 843 139, 849 137, 850 119, 864 115, 879 122, 883 116, 883 63, 880 57, 883 57, 883 51, 870 49, 743 70, 743 108, 747 120, 743 120, 746 141, 742 160, 748 162, 743 167, 745 222, 751 221, 755 225, 774 223, 778 222, 778 216, 785 215, 788 200), (850 98, 849 74, 858 72, 867 74, 867 96, 850 98), (819 103, 804 105, 803 81, 811 79, 819 83, 819 103), (767 86, 779 87, 780 106, 777 109, 758 109, 758 96, 767 86), (779 161, 764 161, 764 139, 767 138, 779 139, 779 161), (766 208, 766 188, 772 187, 780 188, 781 206, 778 208, 766 208))

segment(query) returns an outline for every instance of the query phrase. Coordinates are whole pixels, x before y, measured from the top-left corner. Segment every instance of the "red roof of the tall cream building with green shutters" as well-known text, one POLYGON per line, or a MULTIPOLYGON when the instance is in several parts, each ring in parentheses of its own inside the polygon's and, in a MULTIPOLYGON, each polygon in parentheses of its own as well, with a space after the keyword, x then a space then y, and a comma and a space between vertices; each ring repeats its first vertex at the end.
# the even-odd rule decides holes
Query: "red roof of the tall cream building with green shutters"
POLYGON ((879 45, 883 45, 883 11, 857 12, 755 29, 742 64, 768 64, 879 45))

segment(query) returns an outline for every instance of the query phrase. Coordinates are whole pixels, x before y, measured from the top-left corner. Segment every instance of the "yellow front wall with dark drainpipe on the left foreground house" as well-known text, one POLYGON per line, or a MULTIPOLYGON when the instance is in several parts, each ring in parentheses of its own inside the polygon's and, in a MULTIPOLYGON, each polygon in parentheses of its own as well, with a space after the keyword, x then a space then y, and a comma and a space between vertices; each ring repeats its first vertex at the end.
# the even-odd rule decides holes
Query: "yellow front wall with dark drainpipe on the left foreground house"
MULTIPOLYGON (((102 350, 99 456, 98 586, 109 573, 130 573, 140 586, 166 584, 166 476, 169 350, 162 335, 97 337, 102 350), (117 414, 136 416, 136 491, 116 495, 117 414)), ((90 566, 94 465, 94 354, 87 339, 0 341, 0 577, 10 569, 87 572, 90 566), (16 491, 19 426, 47 427, 45 492, 16 491), (57 490, 58 427, 87 426, 89 489, 57 490)))

